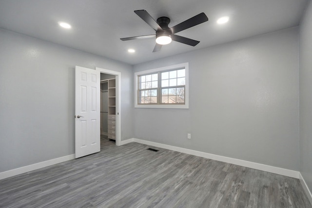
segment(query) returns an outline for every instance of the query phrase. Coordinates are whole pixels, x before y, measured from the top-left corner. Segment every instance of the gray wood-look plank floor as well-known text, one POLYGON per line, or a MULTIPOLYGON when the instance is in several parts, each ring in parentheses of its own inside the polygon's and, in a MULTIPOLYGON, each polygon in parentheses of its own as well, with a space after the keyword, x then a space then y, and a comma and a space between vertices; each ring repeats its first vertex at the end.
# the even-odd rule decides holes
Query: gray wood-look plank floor
POLYGON ((0 181, 1 208, 311 208, 298 179, 142 144, 0 181))

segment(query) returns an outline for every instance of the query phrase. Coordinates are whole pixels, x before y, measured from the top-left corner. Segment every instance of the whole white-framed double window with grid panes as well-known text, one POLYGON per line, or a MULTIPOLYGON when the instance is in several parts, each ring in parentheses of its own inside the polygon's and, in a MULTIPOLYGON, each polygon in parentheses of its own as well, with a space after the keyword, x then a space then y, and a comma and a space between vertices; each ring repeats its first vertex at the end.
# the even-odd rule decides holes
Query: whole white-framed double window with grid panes
POLYGON ((135 73, 135 107, 188 108, 188 63, 135 73))

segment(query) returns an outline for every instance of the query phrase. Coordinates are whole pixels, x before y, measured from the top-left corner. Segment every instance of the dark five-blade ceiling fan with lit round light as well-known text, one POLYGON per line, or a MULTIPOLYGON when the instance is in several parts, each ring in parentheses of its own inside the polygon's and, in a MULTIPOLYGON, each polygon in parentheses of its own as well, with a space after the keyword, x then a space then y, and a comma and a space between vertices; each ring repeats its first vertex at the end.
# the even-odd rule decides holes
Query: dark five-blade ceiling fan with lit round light
POLYGON ((202 12, 186 21, 183 21, 177 24, 176 26, 169 28, 168 24, 170 23, 170 19, 168 17, 160 17, 157 19, 157 21, 155 21, 146 10, 136 10, 134 12, 142 20, 148 23, 156 31, 156 34, 121 38, 120 40, 130 41, 130 40, 156 37, 156 45, 154 47, 153 52, 159 51, 162 45, 169 44, 171 41, 181 42, 181 43, 192 45, 192 46, 197 45, 199 41, 195 41, 189 38, 178 36, 175 33, 188 29, 190 27, 193 27, 205 21, 208 21, 207 16, 205 15, 205 13, 202 12))

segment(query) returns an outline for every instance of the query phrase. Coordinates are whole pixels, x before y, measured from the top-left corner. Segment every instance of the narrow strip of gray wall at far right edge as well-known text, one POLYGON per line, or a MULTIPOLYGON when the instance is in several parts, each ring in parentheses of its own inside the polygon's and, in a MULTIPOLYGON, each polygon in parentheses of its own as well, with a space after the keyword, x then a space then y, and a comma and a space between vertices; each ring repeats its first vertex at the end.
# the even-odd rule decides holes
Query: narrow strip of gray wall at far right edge
POLYGON ((312 1, 300 24, 300 172, 312 190, 312 1))

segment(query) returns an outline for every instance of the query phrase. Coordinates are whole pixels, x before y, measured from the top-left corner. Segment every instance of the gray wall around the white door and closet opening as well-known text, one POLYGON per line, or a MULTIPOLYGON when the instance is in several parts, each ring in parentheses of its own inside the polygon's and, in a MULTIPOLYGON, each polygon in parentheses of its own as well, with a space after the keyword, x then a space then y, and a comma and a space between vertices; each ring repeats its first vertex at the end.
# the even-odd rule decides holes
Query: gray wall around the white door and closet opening
POLYGON ((133 137, 131 65, 0 29, 0 172, 74 154, 75 65, 121 72, 121 140, 133 137))

